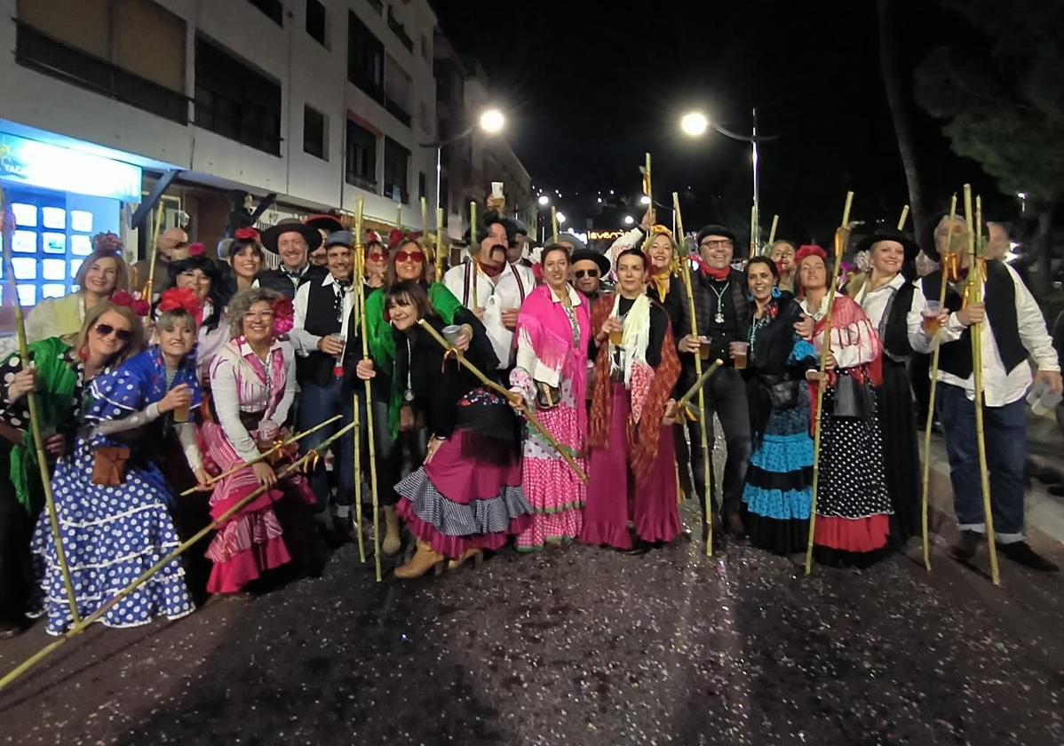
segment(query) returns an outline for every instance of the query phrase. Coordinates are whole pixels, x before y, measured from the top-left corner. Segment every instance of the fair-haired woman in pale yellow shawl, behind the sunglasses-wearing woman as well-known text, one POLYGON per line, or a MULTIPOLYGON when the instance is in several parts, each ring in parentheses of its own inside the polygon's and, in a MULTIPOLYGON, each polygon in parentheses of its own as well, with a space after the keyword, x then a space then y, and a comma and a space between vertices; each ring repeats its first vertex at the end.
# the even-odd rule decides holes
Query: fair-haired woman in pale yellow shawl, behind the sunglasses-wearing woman
POLYGON ((41 300, 26 317, 27 342, 51 336, 73 337, 85 312, 119 291, 129 291, 129 267, 122 261, 122 243, 114 233, 93 236, 93 253, 82 260, 73 284, 77 293, 41 300))

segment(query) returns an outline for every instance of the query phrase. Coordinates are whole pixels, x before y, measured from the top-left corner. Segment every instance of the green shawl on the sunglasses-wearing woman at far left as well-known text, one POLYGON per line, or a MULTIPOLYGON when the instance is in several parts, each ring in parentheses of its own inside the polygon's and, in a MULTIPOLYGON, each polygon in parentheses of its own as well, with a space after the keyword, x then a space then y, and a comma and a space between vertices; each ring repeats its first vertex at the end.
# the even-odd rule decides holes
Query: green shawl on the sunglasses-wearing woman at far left
MULTIPOLYGON (((78 374, 67 363, 69 351, 70 346, 55 336, 30 345, 30 355, 37 368, 37 416, 40 428, 46 432, 62 431, 69 425, 73 413, 78 374)), ((11 481, 18 501, 28 511, 32 510, 31 495, 40 494, 39 469, 33 433, 27 422, 22 445, 11 449, 11 481)))

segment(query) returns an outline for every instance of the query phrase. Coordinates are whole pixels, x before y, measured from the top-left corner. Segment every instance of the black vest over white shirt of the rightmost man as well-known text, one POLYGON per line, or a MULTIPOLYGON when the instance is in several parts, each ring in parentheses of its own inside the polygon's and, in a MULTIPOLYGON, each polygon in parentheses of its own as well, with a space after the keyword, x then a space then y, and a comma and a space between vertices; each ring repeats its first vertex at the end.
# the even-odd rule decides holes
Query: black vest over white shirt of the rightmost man
MULTIPOLYGON (((924 278, 924 295, 937 299, 942 287, 942 270, 934 271, 924 278)), ((1016 317, 1016 285, 1012 275, 1003 264, 996 261, 986 263, 986 284, 983 291, 986 301, 986 320, 994 334, 998 354, 1004 364, 1005 372, 1011 371, 1028 358, 1027 348, 1019 338, 1019 319, 1016 317)), ((946 308, 950 312, 961 310, 961 295, 948 287, 946 289, 946 308)), ((942 346, 938 353, 938 367, 958 378, 971 375, 971 330, 965 329, 961 338, 942 346)))

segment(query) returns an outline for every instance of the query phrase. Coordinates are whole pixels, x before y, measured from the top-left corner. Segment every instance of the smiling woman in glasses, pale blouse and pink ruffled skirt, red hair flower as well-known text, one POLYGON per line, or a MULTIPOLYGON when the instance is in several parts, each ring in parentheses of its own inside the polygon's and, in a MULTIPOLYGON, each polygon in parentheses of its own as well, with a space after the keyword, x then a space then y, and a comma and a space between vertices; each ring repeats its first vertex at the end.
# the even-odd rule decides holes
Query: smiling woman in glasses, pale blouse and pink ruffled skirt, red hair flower
POLYGON ((296 397, 295 353, 292 345, 278 338, 292 329, 292 302, 256 287, 233 297, 228 318, 232 338, 211 364, 216 416, 203 424, 203 442, 221 471, 255 463, 214 485, 211 515, 221 516, 261 485, 270 488, 232 516, 211 543, 210 593, 237 593, 264 573, 289 563, 293 540, 305 544, 309 552, 316 546, 312 517, 316 500, 305 477, 297 473, 277 479, 297 447, 255 461, 260 452, 285 438, 283 426, 296 397))

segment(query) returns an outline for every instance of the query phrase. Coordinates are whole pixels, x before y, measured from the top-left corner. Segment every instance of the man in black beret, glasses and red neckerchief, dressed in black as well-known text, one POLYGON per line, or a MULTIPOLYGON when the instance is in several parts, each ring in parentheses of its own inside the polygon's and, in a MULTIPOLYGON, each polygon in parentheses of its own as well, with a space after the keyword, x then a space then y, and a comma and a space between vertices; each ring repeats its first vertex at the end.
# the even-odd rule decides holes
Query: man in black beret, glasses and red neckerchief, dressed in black
MULTIPOLYGON (((732 363, 733 343, 747 342, 750 332, 750 301, 747 299, 746 278, 732 269, 735 254, 735 234, 724 226, 706 226, 698 232, 699 269, 692 273, 692 292, 695 296, 695 320, 698 336, 692 334, 692 318, 687 303, 680 317, 680 342, 683 374, 681 389, 695 383, 695 355, 700 354, 702 365, 711 365, 718 358, 724 365, 705 383, 705 411, 702 417, 709 430, 710 448, 713 448, 713 416, 720 418, 728 446, 725 462, 724 499, 720 515, 728 532, 742 536, 743 520, 739 507, 746 466, 750 459, 750 415, 746 402, 746 383, 732 363)), ((700 495, 711 494, 713 485, 705 483, 700 431, 697 422, 688 425, 691 461, 695 487, 700 495)), ((699 501, 704 505, 704 499, 699 501)))

